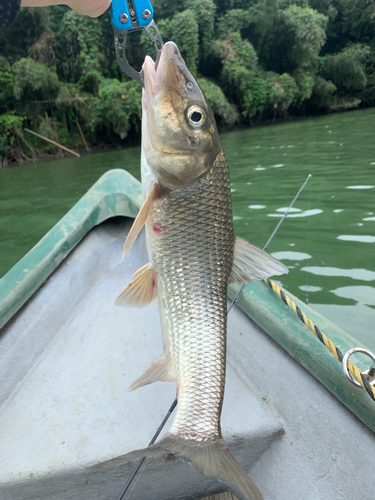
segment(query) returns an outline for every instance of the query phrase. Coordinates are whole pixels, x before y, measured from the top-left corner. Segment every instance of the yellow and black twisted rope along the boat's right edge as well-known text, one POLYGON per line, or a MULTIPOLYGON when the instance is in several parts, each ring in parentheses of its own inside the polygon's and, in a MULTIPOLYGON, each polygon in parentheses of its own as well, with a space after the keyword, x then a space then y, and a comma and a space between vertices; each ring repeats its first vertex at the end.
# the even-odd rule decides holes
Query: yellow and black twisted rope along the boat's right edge
MULTIPOLYGON (((274 283, 269 278, 264 281, 271 288, 271 290, 273 290, 280 297, 280 299, 299 317, 302 323, 304 323, 313 332, 313 334, 320 340, 320 342, 327 347, 330 353, 333 354, 335 358, 341 363, 343 354, 340 349, 335 346, 332 340, 330 340, 323 332, 319 330, 316 325, 314 325, 311 319, 309 319, 306 314, 301 311, 301 309, 293 302, 293 300, 285 295, 285 293, 280 289, 280 287, 276 285, 276 283, 274 283)), ((359 368, 353 365, 349 360, 348 370, 351 375, 361 384, 362 388, 365 389, 370 398, 375 401, 375 387, 370 385, 367 378, 359 371, 359 368)))

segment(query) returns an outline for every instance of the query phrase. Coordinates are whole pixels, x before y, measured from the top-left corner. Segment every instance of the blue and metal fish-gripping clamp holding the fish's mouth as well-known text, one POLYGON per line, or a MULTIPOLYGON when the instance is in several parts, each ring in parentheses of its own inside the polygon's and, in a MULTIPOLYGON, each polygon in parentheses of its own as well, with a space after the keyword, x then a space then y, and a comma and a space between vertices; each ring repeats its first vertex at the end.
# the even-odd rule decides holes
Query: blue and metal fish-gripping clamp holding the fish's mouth
POLYGON ((126 58, 128 31, 144 29, 156 50, 156 64, 160 57, 163 40, 156 27, 154 9, 149 0, 112 0, 112 24, 115 33, 117 61, 128 76, 144 86, 143 70, 133 69, 126 58), (122 41, 120 40, 122 38, 122 41))

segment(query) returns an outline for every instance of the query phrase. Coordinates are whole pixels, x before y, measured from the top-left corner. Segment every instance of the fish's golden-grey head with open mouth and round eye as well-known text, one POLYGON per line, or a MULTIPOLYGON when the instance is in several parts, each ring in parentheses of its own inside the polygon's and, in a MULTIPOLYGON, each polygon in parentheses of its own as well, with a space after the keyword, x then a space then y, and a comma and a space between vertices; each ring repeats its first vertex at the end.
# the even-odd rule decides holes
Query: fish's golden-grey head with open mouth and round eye
POLYGON ((213 112, 177 45, 167 42, 157 64, 143 64, 142 144, 160 184, 190 185, 221 150, 213 112))

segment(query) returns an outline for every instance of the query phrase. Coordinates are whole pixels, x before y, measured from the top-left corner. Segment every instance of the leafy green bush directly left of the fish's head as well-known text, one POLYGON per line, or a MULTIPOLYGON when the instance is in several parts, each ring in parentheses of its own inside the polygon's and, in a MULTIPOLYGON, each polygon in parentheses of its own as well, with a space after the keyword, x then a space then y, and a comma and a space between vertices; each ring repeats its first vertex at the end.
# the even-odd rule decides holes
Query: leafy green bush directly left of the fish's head
POLYGON ((89 102, 89 112, 93 130, 112 129, 121 139, 125 139, 131 126, 138 127, 141 119, 139 84, 104 78, 98 95, 89 102))

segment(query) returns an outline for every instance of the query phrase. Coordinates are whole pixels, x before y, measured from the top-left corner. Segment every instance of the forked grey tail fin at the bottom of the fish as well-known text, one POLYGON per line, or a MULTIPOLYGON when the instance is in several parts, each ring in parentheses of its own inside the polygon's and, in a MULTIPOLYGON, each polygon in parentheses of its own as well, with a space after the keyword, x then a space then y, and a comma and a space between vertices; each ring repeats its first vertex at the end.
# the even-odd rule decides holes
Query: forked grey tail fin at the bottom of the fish
POLYGON ((206 476, 222 481, 240 500, 263 500, 258 488, 241 469, 240 464, 222 439, 198 443, 167 433, 158 443, 115 458, 111 460, 111 463, 124 463, 136 458, 162 453, 172 453, 172 455, 190 462, 206 476))

